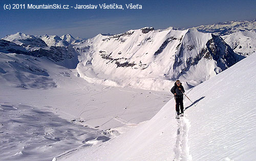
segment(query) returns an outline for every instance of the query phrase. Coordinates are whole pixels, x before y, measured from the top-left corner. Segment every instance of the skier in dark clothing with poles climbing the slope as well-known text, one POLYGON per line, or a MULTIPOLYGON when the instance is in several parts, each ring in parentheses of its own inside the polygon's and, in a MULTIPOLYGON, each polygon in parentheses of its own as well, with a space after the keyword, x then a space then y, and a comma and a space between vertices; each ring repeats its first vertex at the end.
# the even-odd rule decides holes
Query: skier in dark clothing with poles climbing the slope
POLYGON ((182 83, 177 80, 174 83, 174 86, 172 89, 170 89, 170 92, 174 94, 175 101, 176 101, 176 112, 177 112, 177 119, 179 118, 179 114, 183 116, 184 107, 183 107, 183 93, 185 92, 184 87, 182 86, 182 83))

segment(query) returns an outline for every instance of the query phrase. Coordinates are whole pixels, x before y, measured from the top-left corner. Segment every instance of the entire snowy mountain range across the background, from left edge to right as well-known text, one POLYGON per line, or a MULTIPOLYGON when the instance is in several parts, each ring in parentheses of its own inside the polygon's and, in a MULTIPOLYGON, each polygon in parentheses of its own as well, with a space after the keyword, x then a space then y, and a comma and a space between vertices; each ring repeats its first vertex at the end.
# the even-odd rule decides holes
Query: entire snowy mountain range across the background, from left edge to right
MULTIPOLYGON (((46 58, 76 68, 77 76, 91 83, 153 90, 166 90, 176 79, 185 82, 186 88, 196 86, 255 51, 255 20, 186 30, 146 27, 86 40, 70 34, 59 37, 23 33, 0 40, 2 54, 46 58)), ((4 65, 1 68, 6 71, 4 65)))

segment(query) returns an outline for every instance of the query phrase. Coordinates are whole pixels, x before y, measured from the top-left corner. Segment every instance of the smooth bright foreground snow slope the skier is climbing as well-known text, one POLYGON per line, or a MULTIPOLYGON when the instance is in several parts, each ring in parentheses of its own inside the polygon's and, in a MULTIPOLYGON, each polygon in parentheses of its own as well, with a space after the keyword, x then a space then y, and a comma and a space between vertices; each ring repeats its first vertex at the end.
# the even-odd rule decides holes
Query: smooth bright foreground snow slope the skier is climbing
POLYGON ((170 100, 150 121, 57 160, 254 160, 256 55, 186 91, 185 117, 170 100))

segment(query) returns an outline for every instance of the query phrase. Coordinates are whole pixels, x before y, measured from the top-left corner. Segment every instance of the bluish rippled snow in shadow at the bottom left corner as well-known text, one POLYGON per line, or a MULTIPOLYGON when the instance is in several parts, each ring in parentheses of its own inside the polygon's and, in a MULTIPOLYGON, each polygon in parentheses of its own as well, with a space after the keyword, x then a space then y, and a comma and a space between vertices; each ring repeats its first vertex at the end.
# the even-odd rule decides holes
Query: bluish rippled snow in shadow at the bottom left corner
POLYGON ((100 133, 42 109, 1 102, 1 160, 51 160, 56 153, 90 146, 83 142, 100 133))

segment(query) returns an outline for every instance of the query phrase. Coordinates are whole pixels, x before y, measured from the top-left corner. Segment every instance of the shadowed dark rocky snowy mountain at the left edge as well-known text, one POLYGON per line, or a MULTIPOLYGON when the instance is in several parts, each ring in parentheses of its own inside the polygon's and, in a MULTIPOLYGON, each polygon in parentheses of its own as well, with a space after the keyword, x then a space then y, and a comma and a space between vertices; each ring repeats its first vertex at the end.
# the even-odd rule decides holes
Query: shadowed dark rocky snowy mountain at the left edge
MULTIPOLYGON (((68 43, 67 41, 65 42, 68 43)), ((55 43, 55 40, 53 43, 55 43)), ((1 39, 0 52, 45 57, 56 64, 68 68, 76 68, 78 63, 78 53, 72 45, 49 47, 44 40, 33 35, 21 33, 7 35, 1 39)))

